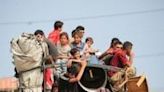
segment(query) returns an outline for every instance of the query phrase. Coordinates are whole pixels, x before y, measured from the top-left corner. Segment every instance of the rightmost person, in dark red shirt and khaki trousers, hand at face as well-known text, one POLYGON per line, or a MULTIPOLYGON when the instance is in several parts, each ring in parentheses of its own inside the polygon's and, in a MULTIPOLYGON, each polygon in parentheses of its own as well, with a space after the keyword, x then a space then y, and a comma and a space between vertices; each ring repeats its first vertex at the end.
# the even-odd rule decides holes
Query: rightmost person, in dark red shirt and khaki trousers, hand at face
POLYGON ((115 88, 118 88, 120 82, 124 79, 122 76, 125 75, 125 80, 127 80, 128 77, 135 75, 135 69, 131 67, 133 63, 132 46, 133 44, 131 42, 129 41, 124 42, 123 48, 114 54, 112 61, 110 62, 110 65, 126 70, 125 74, 119 71, 108 72, 108 75, 109 77, 111 77, 113 86, 115 88), (127 56, 129 58, 127 58, 127 56), (128 74, 129 72, 130 72, 130 76, 128 74))

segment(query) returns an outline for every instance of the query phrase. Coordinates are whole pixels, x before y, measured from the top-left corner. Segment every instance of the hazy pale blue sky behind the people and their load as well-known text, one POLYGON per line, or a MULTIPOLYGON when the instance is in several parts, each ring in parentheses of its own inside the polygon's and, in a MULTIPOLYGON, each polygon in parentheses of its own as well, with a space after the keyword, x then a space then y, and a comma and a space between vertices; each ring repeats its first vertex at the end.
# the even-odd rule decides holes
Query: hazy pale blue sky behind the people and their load
POLYGON ((163 0, 0 0, 0 77, 14 74, 10 40, 36 29, 48 34, 56 20, 69 34, 83 25, 101 52, 113 37, 131 41, 138 74, 146 74, 150 92, 164 91, 163 0))

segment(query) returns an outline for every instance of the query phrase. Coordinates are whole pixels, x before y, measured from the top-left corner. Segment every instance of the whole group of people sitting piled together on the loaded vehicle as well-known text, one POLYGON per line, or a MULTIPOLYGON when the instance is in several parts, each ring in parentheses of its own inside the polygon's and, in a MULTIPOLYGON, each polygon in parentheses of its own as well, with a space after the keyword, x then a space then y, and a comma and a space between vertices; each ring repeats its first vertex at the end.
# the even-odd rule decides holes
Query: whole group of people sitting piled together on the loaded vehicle
MULTIPOLYGON (((43 70, 43 84, 40 87, 42 91, 72 92, 72 90, 78 90, 75 86, 80 81, 87 63, 92 60, 92 56, 98 59, 99 64, 119 67, 125 70, 125 72, 107 71, 107 75, 115 89, 119 89, 119 85, 123 82, 122 78, 127 80, 129 76, 134 76, 134 69, 132 69, 134 53, 132 52, 133 44, 131 42, 125 41, 122 43, 118 38, 113 38, 109 48, 98 56, 95 54, 98 52, 98 49, 92 47, 94 43, 92 37, 87 37, 85 42, 83 42, 85 33, 83 26, 77 26, 72 31, 71 37, 69 37, 67 32, 63 32, 63 25, 62 21, 56 21, 54 29, 49 33, 48 37, 40 29, 34 32, 36 41, 46 43, 47 45, 42 47, 48 50, 48 54, 43 58, 45 66, 55 66, 55 68, 46 67, 43 70), (64 87, 60 86, 62 83, 60 78, 63 76, 68 78, 68 85, 64 87)), ((44 53, 39 54, 43 55, 44 53)), ((28 88, 32 90, 30 87, 26 89, 28 88)))

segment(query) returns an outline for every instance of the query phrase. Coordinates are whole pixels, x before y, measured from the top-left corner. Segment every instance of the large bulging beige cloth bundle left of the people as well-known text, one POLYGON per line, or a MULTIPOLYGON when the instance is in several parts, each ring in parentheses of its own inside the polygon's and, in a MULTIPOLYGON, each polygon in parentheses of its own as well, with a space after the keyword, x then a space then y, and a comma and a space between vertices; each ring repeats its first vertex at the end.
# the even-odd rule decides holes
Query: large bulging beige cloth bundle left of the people
POLYGON ((35 35, 22 33, 10 42, 13 63, 18 72, 41 66, 42 60, 48 55, 45 42, 38 42, 35 35))

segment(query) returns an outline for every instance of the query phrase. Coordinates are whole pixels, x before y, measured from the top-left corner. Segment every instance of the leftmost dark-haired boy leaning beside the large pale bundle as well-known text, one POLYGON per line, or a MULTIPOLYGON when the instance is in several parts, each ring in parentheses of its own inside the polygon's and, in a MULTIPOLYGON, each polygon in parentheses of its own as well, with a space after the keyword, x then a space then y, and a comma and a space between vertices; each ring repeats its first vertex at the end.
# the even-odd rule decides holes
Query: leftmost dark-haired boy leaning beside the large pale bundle
MULTIPOLYGON (((37 37, 37 39, 39 41, 43 40, 44 42, 47 43, 48 46, 48 52, 49 52, 49 56, 47 57, 47 61, 45 62, 45 64, 52 64, 56 57, 58 56, 58 51, 56 46, 49 41, 49 39, 47 39, 44 35, 44 32, 42 30, 36 30, 34 33, 37 37)), ((44 87, 44 91, 46 90, 46 92, 50 92, 52 89, 52 85, 54 84, 54 72, 55 70, 52 68, 46 68, 44 70, 44 83, 43 83, 43 87, 44 87)))

